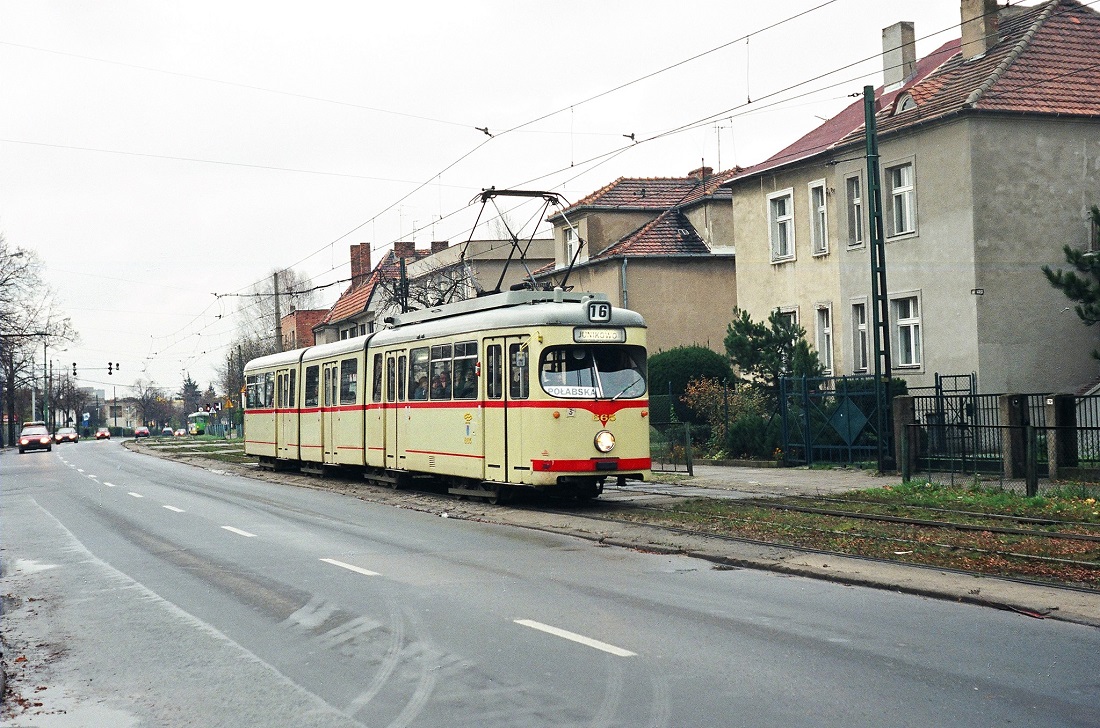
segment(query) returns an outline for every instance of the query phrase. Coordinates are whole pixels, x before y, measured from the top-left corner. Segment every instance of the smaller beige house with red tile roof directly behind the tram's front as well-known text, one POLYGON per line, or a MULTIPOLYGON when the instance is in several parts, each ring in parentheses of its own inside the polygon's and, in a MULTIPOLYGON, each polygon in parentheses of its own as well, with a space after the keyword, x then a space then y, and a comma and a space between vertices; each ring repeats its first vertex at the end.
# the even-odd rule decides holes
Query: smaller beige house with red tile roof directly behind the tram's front
POLYGON ((730 192, 736 170, 620 177, 548 218, 554 262, 544 286, 606 294, 638 311, 651 352, 698 344, 724 351, 737 305, 730 192))

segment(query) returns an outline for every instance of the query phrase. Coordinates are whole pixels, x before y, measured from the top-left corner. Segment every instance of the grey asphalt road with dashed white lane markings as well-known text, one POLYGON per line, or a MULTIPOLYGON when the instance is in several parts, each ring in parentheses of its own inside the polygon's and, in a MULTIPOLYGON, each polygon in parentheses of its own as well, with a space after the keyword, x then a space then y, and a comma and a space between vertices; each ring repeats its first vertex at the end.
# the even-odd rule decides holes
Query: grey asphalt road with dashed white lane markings
POLYGON ((4 725, 1100 715, 1094 628, 443 518, 117 441, 0 454, 0 526, 4 725))

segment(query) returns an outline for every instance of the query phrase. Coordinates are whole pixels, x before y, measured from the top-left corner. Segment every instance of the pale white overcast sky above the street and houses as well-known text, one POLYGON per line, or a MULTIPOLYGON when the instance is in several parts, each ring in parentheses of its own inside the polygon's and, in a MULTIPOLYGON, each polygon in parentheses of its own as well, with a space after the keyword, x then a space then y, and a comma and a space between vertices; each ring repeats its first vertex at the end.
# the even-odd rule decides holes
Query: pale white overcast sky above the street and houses
POLYGON ((881 84, 901 20, 925 55, 959 0, 0 0, 0 233, 42 257, 81 384, 205 389, 226 294, 464 241, 490 186, 760 162, 881 84))

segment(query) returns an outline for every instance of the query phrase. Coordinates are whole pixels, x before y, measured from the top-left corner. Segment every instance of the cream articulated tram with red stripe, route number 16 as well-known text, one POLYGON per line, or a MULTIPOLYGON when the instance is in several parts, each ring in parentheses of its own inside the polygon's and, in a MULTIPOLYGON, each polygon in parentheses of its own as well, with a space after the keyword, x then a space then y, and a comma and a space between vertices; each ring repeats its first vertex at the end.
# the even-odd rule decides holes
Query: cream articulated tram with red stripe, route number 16
POLYGON ((650 476, 646 326, 601 294, 515 290, 245 366, 245 452, 399 487, 596 497, 650 476))

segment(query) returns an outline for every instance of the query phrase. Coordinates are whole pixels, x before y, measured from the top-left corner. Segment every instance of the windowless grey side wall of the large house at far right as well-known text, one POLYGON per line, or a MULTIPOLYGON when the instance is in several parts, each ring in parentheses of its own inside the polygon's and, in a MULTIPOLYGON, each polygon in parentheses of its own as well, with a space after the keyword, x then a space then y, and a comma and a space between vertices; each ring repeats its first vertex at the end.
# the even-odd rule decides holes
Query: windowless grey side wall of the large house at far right
POLYGON ((1040 269, 1088 246, 1100 205, 1100 121, 975 120, 975 299, 979 383, 987 391, 1074 391, 1096 380, 1100 335, 1040 269))

